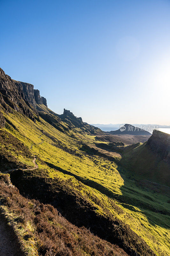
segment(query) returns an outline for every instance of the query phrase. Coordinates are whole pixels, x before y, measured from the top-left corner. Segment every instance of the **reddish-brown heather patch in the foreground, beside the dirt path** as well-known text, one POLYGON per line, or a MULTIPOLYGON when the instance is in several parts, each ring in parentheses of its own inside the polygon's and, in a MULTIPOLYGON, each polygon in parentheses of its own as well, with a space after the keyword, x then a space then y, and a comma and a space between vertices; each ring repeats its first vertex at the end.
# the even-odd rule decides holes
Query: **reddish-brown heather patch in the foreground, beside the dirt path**
POLYGON ((86 228, 78 228, 67 221, 50 204, 29 200, 11 185, 8 175, 0 175, 0 204, 7 207, 22 227, 30 223, 25 240, 36 241, 42 256, 127 256, 118 246, 94 236, 86 228))

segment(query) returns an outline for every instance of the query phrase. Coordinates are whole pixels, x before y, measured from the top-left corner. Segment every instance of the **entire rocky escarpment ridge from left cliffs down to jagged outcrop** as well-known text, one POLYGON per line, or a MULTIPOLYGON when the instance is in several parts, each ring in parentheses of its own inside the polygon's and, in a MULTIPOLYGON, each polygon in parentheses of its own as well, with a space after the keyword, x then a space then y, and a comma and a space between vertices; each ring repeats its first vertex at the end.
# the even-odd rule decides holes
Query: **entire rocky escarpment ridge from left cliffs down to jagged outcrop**
MULTIPOLYGON (((19 82, 11 79, 0 68, 0 107, 12 113, 20 112, 33 122, 40 121, 40 117, 61 132, 69 132, 72 129, 81 129, 89 134, 103 134, 103 132, 76 117, 70 110, 64 109, 62 115, 51 111, 47 106, 46 98, 40 96, 40 91, 34 89, 33 84, 19 82)), ((0 126, 4 127, 4 117, 0 114, 0 126)))

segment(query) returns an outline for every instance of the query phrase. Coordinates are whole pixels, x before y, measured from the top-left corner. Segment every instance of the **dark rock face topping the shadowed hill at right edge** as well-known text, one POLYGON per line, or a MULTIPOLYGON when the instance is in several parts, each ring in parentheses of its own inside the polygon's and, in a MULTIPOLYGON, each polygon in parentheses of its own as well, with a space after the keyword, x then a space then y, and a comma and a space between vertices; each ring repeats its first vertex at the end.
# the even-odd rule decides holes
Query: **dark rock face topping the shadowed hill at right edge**
POLYGON ((146 145, 161 159, 170 162, 170 134, 154 130, 146 145))

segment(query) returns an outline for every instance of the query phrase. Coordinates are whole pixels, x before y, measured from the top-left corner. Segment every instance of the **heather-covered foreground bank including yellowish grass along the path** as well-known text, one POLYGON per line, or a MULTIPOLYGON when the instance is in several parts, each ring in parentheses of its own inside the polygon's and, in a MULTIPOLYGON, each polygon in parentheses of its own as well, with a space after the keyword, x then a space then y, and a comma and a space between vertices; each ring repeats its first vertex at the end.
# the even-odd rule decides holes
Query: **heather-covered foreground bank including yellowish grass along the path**
POLYGON ((21 196, 7 174, 0 174, 0 203, 0 230, 6 238, 6 243, 2 243, 1 237, 2 256, 128 256, 118 246, 94 236, 86 228, 72 225, 53 206, 21 196), (14 232, 11 237, 10 228, 4 227, 5 219, 18 234, 18 239, 14 232))

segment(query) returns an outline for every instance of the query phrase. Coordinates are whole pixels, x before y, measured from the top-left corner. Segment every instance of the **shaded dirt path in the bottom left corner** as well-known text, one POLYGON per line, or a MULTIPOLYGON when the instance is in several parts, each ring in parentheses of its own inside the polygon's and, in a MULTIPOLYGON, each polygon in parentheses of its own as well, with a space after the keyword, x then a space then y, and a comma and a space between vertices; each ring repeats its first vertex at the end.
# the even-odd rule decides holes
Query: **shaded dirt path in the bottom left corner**
POLYGON ((0 213, 0 256, 24 256, 17 237, 0 213))

